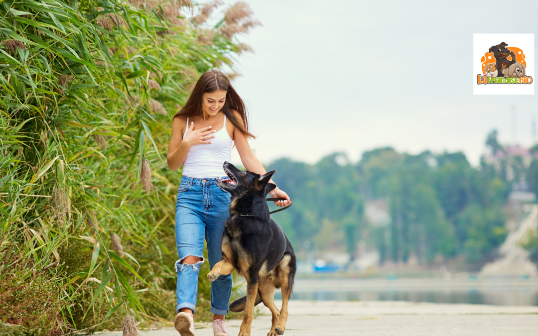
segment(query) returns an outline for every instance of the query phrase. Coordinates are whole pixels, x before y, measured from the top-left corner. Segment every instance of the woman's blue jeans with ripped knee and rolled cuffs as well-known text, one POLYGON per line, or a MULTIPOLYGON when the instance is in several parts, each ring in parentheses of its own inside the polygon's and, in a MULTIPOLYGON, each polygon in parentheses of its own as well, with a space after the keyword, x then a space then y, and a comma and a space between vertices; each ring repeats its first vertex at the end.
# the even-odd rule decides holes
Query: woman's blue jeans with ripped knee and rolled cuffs
MULTIPOLYGON (((225 178, 225 176, 223 177, 225 178)), ((209 267, 222 259, 221 242, 224 223, 229 216, 230 194, 218 187, 215 178, 183 176, 175 205, 175 242, 179 260, 176 311, 181 308, 196 311, 198 274, 203 259, 203 239, 207 241, 209 267), (186 256, 197 256, 202 261, 181 263, 186 256)), ((202 279, 202 281, 209 281, 202 279)), ((217 315, 228 313, 232 292, 232 275, 219 276, 211 283, 211 311, 217 315)))

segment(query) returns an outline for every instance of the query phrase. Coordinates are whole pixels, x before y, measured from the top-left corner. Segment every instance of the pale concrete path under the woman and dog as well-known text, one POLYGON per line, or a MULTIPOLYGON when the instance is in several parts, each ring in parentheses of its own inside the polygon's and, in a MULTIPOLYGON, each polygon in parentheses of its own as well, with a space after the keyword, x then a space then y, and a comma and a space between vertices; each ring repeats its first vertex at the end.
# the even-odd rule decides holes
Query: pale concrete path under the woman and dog
MULTIPOLYGON (((277 307, 281 302, 275 301, 277 307)), ((270 312, 263 307, 252 323, 252 336, 265 336, 270 312)), ((240 320, 228 320, 231 336, 240 320)), ((174 328, 140 336, 179 336, 174 328)), ((102 336, 118 336, 106 333, 102 336)), ((391 301, 291 301, 286 336, 388 335, 538 335, 538 306, 493 306, 391 301)), ((211 325, 197 325, 196 336, 213 336, 211 325)))

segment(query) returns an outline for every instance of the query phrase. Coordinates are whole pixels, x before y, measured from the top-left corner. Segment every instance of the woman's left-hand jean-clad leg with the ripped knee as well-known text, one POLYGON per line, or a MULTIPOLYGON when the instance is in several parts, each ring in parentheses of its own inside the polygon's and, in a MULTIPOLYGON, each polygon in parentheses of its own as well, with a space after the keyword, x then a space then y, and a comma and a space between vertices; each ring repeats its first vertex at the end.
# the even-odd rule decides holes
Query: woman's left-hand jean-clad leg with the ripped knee
POLYGON ((203 263, 203 196, 200 200, 193 185, 178 194, 175 212, 175 240, 179 260, 175 263, 178 273, 176 311, 194 313, 198 295, 198 275, 203 263), (202 212, 199 211, 202 210, 202 212))

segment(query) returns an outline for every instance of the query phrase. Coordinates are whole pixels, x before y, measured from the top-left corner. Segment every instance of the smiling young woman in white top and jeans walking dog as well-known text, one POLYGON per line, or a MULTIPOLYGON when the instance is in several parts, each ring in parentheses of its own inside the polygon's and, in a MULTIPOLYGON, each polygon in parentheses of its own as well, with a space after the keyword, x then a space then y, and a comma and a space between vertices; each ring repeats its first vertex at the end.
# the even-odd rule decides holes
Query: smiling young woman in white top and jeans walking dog
MULTIPOLYGON (((209 267, 213 268, 222 258, 221 240, 224 222, 229 216, 230 194, 218 187, 215 180, 227 178, 222 165, 224 161, 231 161, 232 141, 247 170, 266 173, 252 153, 248 138, 254 136, 249 132, 245 105, 228 78, 217 70, 204 73, 185 106, 174 116, 167 155, 168 167, 172 170, 183 165, 175 212, 179 260, 175 263, 178 314, 174 325, 181 336, 194 335, 193 314, 196 311, 198 274, 204 262, 204 237, 209 267)), ((271 196, 286 199, 275 202, 278 206, 291 203, 281 189, 273 190, 271 196)), ((231 274, 220 276, 211 283, 215 336, 229 336, 224 315, 228 313, 231 289, 231 274)))

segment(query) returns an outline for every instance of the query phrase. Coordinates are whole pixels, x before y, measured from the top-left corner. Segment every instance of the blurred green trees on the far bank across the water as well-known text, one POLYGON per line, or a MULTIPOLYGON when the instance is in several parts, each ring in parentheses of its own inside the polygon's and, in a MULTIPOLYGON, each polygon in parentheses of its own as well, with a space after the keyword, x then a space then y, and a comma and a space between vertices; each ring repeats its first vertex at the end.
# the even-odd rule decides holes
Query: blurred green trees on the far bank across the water
MULTIPOLYGON (((486 143, 502 150, 495 132, 486 143)), ((409 155, 386 147, 365 152, 357 163, 334 153, 314 165, 279 159, 270 168, 294 201, 274 216, 296 246, 316 241, 317 249, 345 246, 353 254, 357 241, 365 240, 382 260, 408 262, 414 255, 431 263, 461 255, 477 262, 507 234, 502 206, 511 182, 484 160, 471 167, 460 152, 409 155), (374 199, 388 205, 386 226, 365 220, 365 202, 374 199)), ((538 161, 531 170, 527 177, 536 190, 538 161)))

